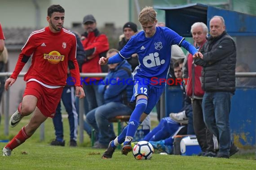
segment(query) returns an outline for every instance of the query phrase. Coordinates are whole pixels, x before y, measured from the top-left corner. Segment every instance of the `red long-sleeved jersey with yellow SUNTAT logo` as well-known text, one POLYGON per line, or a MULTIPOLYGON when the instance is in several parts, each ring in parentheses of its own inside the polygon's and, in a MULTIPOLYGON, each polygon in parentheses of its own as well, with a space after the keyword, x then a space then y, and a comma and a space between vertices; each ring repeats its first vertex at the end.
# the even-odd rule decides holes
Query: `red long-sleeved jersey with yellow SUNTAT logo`
POLYGON ((36 79, 46 85, 65 86, 69 65, 75 85, 80 86, 75 34, 66 29, 53 33, 49 27, 32 32, 22 47, 12 78, 17 79, 31 55, 31 66, 24 81, 36 79))

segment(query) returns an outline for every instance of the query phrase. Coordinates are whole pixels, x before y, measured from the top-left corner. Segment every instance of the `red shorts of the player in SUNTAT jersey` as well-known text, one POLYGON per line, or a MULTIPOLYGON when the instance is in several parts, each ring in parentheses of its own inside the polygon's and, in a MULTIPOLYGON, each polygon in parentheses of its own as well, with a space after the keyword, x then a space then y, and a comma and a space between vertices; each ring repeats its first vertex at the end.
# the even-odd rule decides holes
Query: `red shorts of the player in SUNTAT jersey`
POLYGON ((26 83, 26 89, 23 97, 26 95, 33 95, 37 98, 36 106, 46 117, 53 118, 56 108, 61 100, 63 88, 49 89, 40 85, 36 81, 29 81, 26 83))

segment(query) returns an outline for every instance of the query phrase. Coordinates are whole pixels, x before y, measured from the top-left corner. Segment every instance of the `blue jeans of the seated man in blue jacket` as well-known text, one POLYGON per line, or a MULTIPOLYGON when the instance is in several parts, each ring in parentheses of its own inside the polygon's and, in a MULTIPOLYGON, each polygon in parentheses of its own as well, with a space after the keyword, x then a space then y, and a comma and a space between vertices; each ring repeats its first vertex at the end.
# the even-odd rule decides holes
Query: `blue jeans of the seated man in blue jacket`
POLYGON ((113 124, 108 119, 118 115, 131 115, 132 109, 120 102, 109 102, 89 111, 86 121, 99 132, 99 143, 108 146, 111 139, 115 137, 113 124))

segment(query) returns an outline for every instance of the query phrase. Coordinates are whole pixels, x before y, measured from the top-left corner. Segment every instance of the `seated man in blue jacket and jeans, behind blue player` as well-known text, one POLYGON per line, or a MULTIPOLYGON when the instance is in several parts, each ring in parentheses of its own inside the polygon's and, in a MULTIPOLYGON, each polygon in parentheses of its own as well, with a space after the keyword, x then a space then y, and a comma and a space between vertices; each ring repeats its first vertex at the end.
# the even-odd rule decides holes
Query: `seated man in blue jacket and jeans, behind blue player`
MULTIPOLYGON (((110 49, 106 56, 111 57, 119 51, 110 49)), ((86 121, 96 131, 98 141, 93 148, 107 148, 110 140, 115 139, 113 124, 108 120, 118 115, 131 115, 135 105, 130 103, 133 94, 131 65, 126 60, 119 64, 109 64, 109 72, 98 90, 103 93, 106 104, 88 112, 86 121)), ((135 104, 135 103, 134 103, 135 104)))

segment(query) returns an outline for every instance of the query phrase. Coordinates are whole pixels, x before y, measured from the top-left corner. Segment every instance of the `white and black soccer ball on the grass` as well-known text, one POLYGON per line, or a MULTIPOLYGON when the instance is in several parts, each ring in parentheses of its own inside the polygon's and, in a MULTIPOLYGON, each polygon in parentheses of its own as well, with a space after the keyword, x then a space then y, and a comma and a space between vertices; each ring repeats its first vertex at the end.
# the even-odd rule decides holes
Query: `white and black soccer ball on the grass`
POLYGON ((154 153, 154 148, 152 144, 150 144, 147 141, 139 141, 137 144, 134 145, 132 149, 133 156, 137 160, 141 159, 151 159, 153 153, 154 153))

